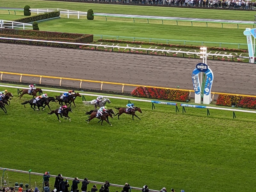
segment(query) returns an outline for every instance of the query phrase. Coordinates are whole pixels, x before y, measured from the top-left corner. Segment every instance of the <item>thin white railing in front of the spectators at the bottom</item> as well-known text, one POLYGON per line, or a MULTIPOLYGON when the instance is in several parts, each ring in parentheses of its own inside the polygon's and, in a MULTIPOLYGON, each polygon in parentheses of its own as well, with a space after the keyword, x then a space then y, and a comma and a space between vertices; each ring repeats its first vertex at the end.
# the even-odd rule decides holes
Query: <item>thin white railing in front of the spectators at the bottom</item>
MULTIPOLYGON (((44 173, 36 173, 36 172, 29 172, 29 171, 21 171, 21 170, 16 170, 16 169, 7 169, 7 168, 2 168, 0 167, 0 170, 3 170, 3 171, 11 171, 11 172, 19 172, 19 173, 25 173, 25 174, 31 174, 31 175, 39 175, 39 176, 44 176, 44 173)), ((57 175, 50 175, 51 177, 57 177, 57 175)), ((66 177, 66 176, 63 176, 63 178, 67 178, 68 180, 73 180, 74 177, 66 177)), ((83 179, 79 179, 79 181, 83 181, 83 179)), ((93 184, 100 184, 100 185, 104 185, 105 182, 98 182, 98 181, 91 181, 89 180, 90 183, 93 183, 93 184)), ((124 185, 117 185, 117 184, 110 184, 110 186, 113 186, 113 187, 120 187, 120 188, 123 188, 124 185)), ((142 190, 142 188, 138 188, 138 187, 131 187, 132 189, 136 189, 136 190, 142 190)), ((159 192, 159 190, 153 190, 153 189, 149 189, 150 192, 159 192)))

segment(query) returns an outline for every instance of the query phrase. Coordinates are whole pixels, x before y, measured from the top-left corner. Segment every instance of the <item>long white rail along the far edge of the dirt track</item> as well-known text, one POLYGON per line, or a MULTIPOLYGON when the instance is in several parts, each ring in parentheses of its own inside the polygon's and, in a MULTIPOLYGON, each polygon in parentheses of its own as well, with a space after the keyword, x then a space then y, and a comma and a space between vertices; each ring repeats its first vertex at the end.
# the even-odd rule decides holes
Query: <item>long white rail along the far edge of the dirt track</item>
MULTIPOLYGON (((36 39, 21 39, 21 38, 10 38, 10 37, 0 37, 0 39, 10 39, 10 40, 21 40, 21 41, 35 41, 35 42, 44 42, 44 43, 59 43, 59 44, 73 44, 73 45, 87 45, 96 47, 110 47, 110 48, 121 48, 121 49, 136 49, 134 47, 123 47, 123 46, 113 46, 113 45, 100 45, 100 44, 84 44, 84 43, 72 43, 72 42, 61 42, 61 41, 46 41, 46 40, 36 40, 36 39)), ((202 56, 203 54, 200 52, 186 52, 186 51, 175 51, 175 50, 162 50, 162 49, 147 49, 147 48, 137 48, 139 50, 145 51, 159 51, 159 52, 173 52, 173 53, 188 53, 188 54, 196 54, 197 56, 202 56)), ((227 58, 236 58, 240 56, 234 55, 224 55, 224 54, 214 54, 214 53, 206 53, 206 56, 224 56, 227 58)), ((253 58, 253 57, 242 57, 242 58, 253 58)))

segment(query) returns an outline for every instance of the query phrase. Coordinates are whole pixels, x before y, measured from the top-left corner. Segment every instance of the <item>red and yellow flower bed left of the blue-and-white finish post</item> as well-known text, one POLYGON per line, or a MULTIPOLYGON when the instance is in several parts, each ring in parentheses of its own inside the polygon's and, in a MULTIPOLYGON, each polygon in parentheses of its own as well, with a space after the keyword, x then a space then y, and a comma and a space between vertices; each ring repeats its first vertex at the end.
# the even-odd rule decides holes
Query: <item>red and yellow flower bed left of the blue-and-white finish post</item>
POLYGON ((171 90, 171 89, 159 89, 151 87, 136 87, 131 92, 133 97, 141 97, 148 99, 159 99, 169 101, 186 102, 189 100, 188 91, 171 90))

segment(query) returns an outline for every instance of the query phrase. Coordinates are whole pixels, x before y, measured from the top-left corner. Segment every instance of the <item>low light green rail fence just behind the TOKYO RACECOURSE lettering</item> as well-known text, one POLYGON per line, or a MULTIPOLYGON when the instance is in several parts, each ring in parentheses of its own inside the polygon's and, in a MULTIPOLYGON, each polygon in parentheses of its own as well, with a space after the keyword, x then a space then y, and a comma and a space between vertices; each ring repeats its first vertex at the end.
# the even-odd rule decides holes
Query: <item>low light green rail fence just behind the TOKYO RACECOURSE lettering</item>
POLYGON ((224 42, 210 42, 210 41, 188 41, 188 40, 175 40, 175 39, 156 39, 145 37, 126 37, 126 36, 111 36, 111 35, 93 35, 98 39, 112 39, 112 40, 130 40, 130 41, 145 41, 149 43, 166 43, 166 44, 182 44, 182 45, 201 45, 201 46, 215 46, 215 47, 232 47, 237 49, 247 49, 245 43, 224 43, 224 42))

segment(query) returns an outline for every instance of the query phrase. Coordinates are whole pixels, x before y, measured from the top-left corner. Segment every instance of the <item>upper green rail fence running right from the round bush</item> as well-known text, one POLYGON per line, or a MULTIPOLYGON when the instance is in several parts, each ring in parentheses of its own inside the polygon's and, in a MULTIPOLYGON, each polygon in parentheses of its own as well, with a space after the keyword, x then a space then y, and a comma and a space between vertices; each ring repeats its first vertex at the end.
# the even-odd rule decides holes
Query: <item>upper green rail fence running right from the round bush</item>
POLYGON ((176 25, 178 25, 178 21, 181 22, 190 22, 191 26, 193 26, 193 22, 197 22, 197 23, 205 23, 206 27, 208 27, 208 23, 219 23, 221 24, 221 28, 223 28, 223 24, 234 24, 237 25, 237 28, 239 28, 239 25, 252 25, 252 27, 254 28, 253 23, 229 23, 229 22, 218 22, 218 21, 196 21, 196 20, 176 20, 176 19, 157 19, 157 18, 144 18, 144 17, 124 17, 124 16, 112 16, 112 15, 98 15, 97 13, 93 14, 93 16, 102 16, 105 17, 105 20, 107 21, 107 17, 115 17, 115 18, 127 18, 127 19, 133 19, 133 23, 135 23, 135 19, 146 19, 149 23, 149 20, 161 20, 162 24, 164 24, 164 21, 168 20, 168 21, 176 21, 176 25))

